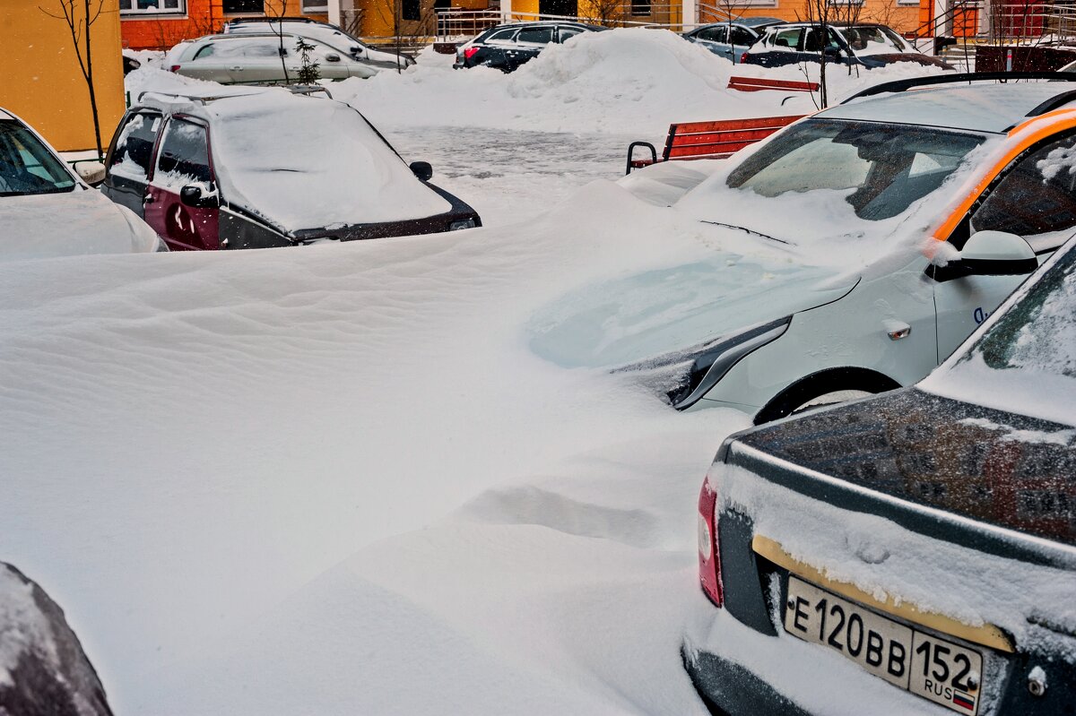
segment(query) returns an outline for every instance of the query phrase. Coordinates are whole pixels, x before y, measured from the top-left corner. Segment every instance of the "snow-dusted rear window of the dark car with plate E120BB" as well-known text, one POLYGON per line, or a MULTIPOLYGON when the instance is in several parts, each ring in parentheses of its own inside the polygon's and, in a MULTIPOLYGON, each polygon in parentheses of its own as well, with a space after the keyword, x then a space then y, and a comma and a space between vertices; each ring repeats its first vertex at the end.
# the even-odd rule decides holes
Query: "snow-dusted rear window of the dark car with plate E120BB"
POLYGON ((958 400, 1076 425, 1076 250, 1067 250, 1023 290, 1022 299, 1000 314, 971 350, 954 354, 921 386, 958 400))

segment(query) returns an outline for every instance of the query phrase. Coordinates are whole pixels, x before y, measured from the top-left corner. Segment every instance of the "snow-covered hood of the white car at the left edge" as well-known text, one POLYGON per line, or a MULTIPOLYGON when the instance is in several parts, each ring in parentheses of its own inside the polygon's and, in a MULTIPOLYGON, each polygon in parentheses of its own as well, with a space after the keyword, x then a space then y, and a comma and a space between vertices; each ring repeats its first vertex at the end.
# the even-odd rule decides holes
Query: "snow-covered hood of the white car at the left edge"
POLYGON ((0 198, 0 260, 156 250, 157 234, 96 189, 0 198))

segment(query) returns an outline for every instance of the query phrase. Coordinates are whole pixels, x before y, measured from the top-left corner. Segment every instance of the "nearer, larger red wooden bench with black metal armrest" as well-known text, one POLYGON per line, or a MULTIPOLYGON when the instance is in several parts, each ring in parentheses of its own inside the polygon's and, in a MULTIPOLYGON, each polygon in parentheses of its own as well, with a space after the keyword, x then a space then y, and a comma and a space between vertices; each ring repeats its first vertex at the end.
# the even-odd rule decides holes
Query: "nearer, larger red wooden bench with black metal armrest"
POLYGON ((657 158, 657 149, 650 142, 632 142, 627 146, 627 168, 624 173, 631 174, 633 169, 669 159, 725 159, 744 147, 766 139, 802 116, 684 121, 669 125, 669 134, 665 140, 662 158, 657 158), (650 158, 634 158, 633 154, 637 146, 649 148, 650 158))

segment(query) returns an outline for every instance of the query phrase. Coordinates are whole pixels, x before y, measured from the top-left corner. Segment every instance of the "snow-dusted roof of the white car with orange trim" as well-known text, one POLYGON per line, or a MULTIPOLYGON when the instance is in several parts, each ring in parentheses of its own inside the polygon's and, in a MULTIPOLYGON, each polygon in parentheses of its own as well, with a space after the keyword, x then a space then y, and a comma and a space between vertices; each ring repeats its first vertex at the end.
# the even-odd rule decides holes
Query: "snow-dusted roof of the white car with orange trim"
POLYGON ((1034 108, 1068 89, 1067 83, 948 85, 840 104, 816 116, 1004 133, 1034 108))

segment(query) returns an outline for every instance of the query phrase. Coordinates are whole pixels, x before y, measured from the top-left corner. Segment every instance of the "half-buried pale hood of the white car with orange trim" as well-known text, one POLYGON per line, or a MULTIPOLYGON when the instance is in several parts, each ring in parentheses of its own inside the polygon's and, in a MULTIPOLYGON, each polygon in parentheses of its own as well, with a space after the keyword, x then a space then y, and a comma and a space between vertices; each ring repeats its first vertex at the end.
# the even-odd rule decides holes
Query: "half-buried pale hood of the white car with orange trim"
POLYGON ((565 368, 624 367, 699 347, 836 300, 855 285, 834 269, 732 252, 587 286, 539 311, 530 348, 565 368))

